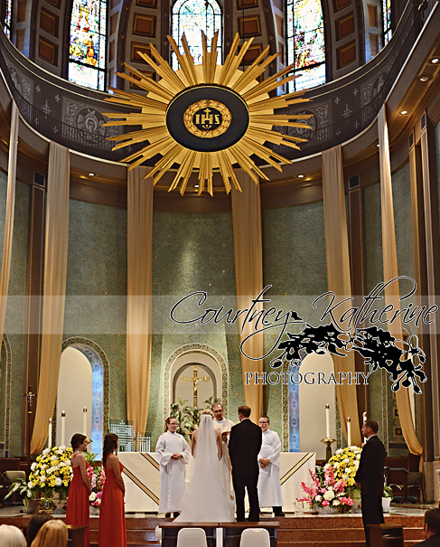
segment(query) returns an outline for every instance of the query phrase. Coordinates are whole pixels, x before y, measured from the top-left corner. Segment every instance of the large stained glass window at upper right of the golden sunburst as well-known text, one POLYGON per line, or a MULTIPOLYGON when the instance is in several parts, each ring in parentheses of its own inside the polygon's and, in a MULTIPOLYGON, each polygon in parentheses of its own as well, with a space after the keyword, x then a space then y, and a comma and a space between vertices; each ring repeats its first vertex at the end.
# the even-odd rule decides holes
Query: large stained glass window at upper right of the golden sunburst
POLYGON ((325 82, 321 0, 287 0, 287 59, 294 63, 294 73, 302 74, 290 82, 289 91, 325 82))

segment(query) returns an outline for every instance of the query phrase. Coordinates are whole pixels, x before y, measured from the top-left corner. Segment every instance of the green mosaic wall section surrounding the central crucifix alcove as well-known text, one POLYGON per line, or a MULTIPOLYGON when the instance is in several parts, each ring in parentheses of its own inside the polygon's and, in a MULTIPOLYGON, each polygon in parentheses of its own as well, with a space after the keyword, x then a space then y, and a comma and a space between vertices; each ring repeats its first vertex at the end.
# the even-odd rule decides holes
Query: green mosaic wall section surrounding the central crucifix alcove
MULTIPOLYGON (((244 403, 239 358, 238 326, 205 325, 198 332, 182 333, 169 319, 173 304, 194 291, 210 297, 236 293, 234 242, 231 213, 154 212, 153 218, 153 344, 150 405, 147 430, 153 444, 163 432, 164 366, 183 344, 207 344, 219 352, 229 366, 229 417, 244 403)), ((237 301, 234 298, 234 307, 237 301)))

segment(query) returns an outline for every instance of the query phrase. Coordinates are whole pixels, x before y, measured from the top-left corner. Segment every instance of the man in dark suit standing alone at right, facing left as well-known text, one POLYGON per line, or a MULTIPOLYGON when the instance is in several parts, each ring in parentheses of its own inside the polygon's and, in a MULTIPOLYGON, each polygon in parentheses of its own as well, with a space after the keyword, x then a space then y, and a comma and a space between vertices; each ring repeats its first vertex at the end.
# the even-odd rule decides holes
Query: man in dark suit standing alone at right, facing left
POLYGON ((367 420, 360 429, 367 439, 360 455, 359 469, 355 476, 356 485, 360 486, 360 504, 362 506, 362 521, 365 530, 365 540, 370 547, 369 524, 384 523, 382 513, 383 466, 385 463, 385 447, 377 433, 379 424, 375 420, 367 420))

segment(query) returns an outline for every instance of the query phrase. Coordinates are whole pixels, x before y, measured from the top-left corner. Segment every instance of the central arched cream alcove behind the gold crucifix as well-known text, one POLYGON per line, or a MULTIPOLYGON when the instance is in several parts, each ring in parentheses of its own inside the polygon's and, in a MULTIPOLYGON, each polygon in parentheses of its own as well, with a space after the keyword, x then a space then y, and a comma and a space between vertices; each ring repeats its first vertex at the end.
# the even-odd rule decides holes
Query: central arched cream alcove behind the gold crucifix
MULTIPOLYGON (((225 414, 228 411, 228 391, 229 391, 229 375, 228 367, 223 357, 215 349, 205 344, 186 344, 177 348, 170 355, 164 367, 164 418, 169 415, 170 403, 176 398, 179 398, 179 391, 176 390, 178 382, 182 382, 180 378, 183 376, 193 376, 193 367, 198 367, 198 376, 209 376, 210 393, 213 397, 217 397, 222 401, 225 409, 225 414), (214 391, 215 390, 215 391, 214 391)), ((185 382, 187 386, 193 385, 191 381, 185 382)), ((183 384, 183 382, 182 382, 183 384)), ((203 386, 206 387, 206 386, 203 386)), ((190 390, 192 388, 189 387, 190 390)), ((184 397, 189 405, 192 405, 192 391, 188 391, 189 397, 184 397)), ((198 399, 199 406, 202 405, 205 399, 198 399)))

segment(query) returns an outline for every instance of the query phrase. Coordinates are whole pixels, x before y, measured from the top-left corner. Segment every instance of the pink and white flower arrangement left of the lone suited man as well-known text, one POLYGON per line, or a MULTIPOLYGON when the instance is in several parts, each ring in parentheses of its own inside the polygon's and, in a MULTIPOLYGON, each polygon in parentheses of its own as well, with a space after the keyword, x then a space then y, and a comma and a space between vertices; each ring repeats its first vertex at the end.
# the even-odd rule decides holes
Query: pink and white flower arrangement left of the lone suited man
POLYGON ((315 472, 310 471, 312 484, 301 483, 304 491, 304 497, 296 498, 298 502, 305 502, 310 507, 343 508, 344 505, 353 505, 353 500, 347 494, 345 483, 342 479, 336 480, 334 477, 334 468, 329 464, 324 467, 316 466, 315 472))

